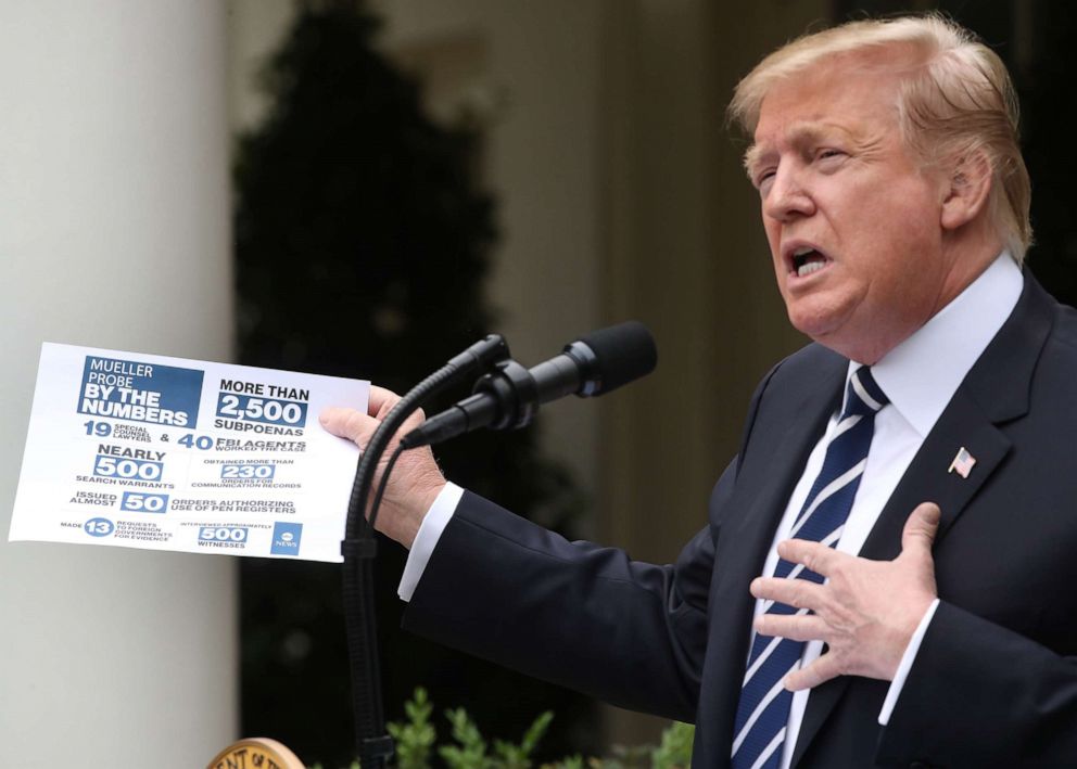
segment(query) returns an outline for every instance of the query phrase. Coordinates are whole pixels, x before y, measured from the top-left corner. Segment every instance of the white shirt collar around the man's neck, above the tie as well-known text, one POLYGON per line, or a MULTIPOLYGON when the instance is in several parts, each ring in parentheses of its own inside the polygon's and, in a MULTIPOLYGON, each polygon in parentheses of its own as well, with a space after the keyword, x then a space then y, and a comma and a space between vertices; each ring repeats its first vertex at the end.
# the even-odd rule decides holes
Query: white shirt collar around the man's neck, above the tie
MULTIPOLYGON (((872 367, 890 403, 922 438, 1010 317, 1023 286, 1021 268, 1003 251, 949 305, 872 367)), ((858 368, 850 361, 849 375, 858 368)))

